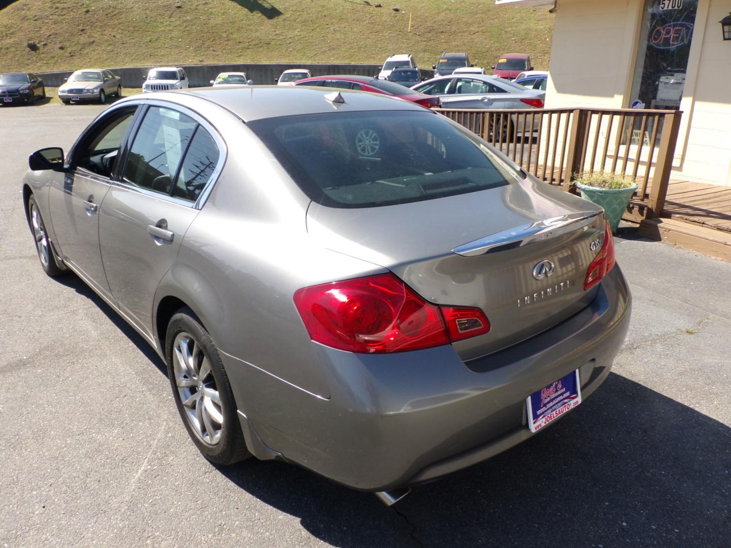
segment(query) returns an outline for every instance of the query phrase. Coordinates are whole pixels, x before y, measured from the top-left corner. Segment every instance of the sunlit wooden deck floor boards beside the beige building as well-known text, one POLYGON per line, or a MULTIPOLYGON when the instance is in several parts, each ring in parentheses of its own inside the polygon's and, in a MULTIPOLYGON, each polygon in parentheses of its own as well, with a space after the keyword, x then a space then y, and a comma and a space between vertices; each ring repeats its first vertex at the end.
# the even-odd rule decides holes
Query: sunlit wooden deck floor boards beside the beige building
POLYGON ((670 180, 662 217, 731 232, 731 186, 670 180))

